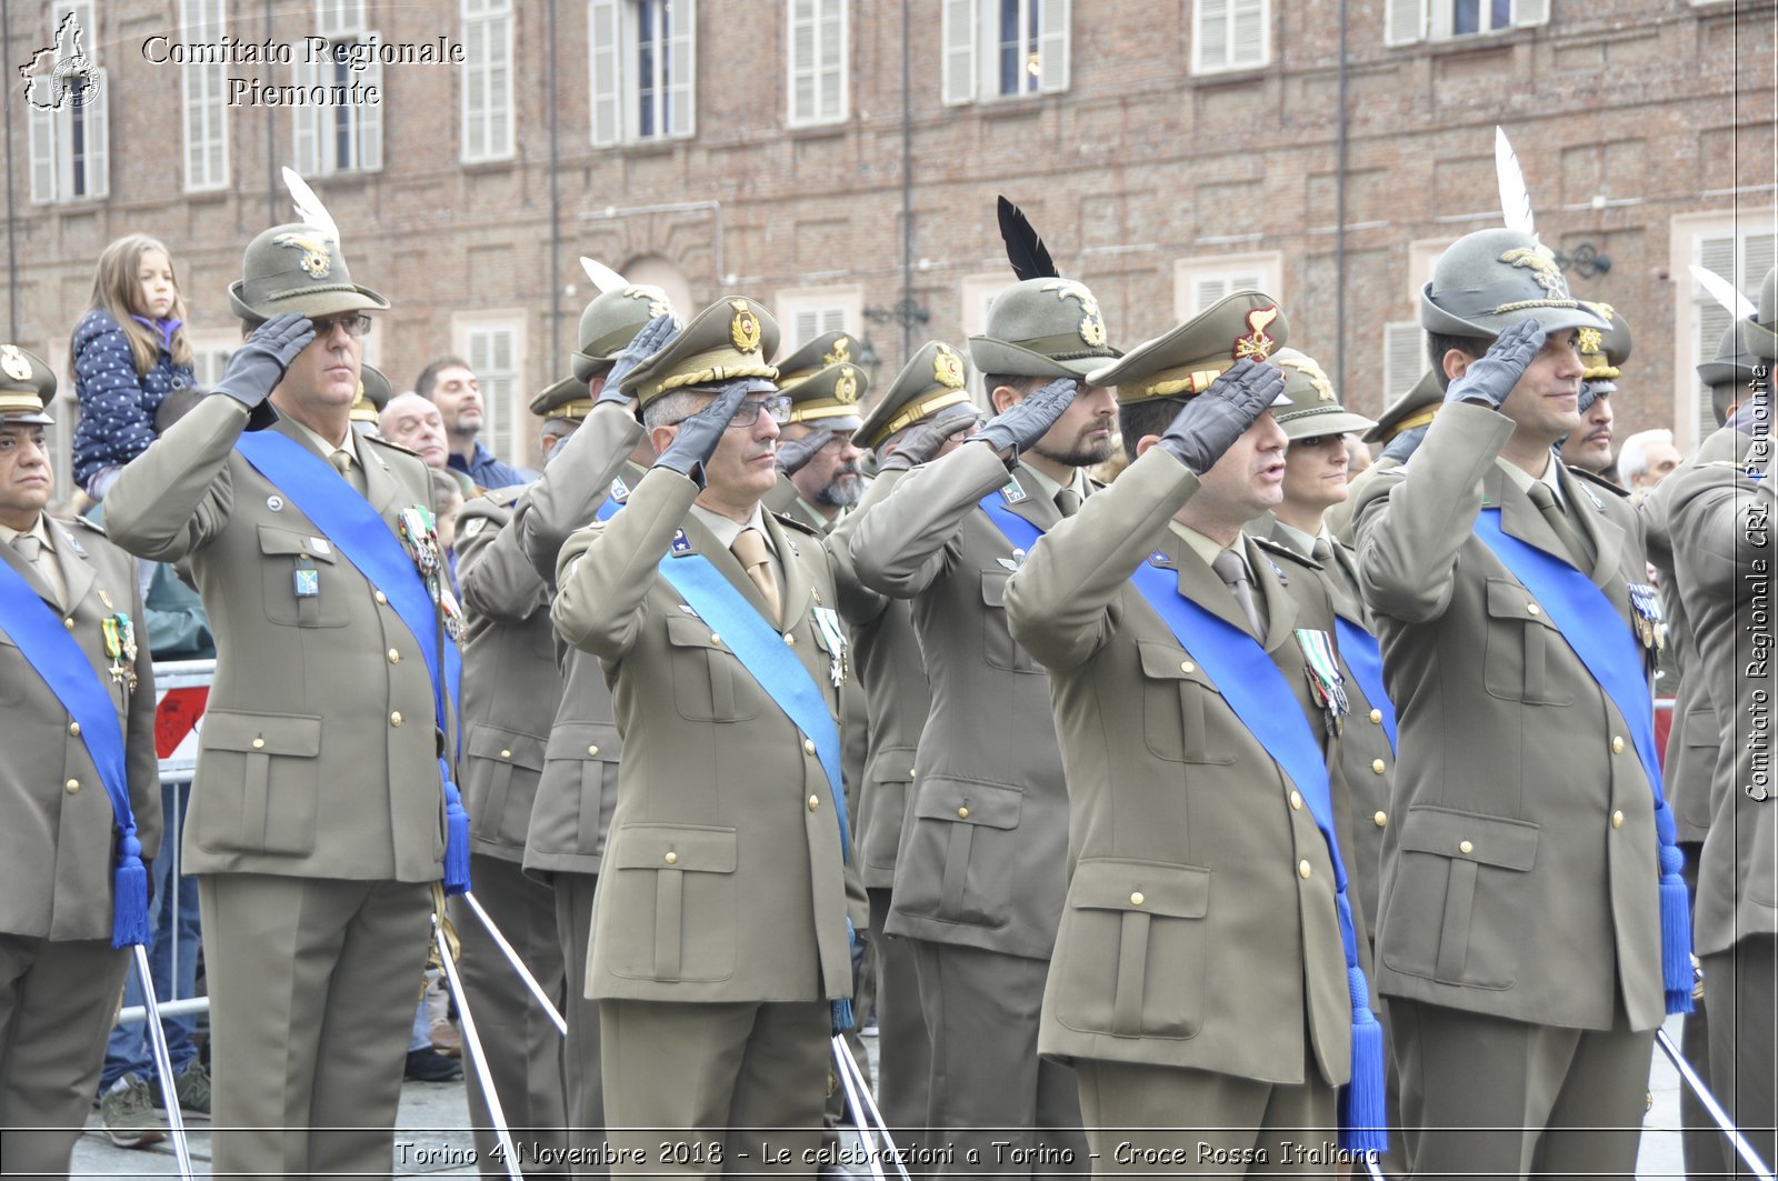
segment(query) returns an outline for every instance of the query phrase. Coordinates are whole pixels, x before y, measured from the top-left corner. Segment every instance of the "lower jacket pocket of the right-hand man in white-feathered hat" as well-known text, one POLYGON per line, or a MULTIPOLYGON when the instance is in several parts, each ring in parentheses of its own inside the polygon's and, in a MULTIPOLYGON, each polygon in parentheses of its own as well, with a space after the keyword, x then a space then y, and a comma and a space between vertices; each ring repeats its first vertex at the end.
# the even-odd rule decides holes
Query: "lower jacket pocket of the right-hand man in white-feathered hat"
POLYGON ((1383 904, 1383 960, 1410 976, 1510 989, 1518 973, 1538 825, 1447 807, 1410 807, 1383 904))

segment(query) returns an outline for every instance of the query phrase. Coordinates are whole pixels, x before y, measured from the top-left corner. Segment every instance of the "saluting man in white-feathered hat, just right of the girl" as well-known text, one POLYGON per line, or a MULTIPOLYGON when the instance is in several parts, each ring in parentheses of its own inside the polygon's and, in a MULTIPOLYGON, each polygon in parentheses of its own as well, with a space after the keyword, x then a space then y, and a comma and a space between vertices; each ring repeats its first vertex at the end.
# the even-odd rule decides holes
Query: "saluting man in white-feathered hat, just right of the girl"
POLYGON ((247 343, 117 477, 107 528, 188 558, 217 639, 181 857, 203 909, 215 1174, 386 1172, 432 882, 466 884, 443 688, 455 603, 450 621, 434 607, 425 464, 350 429, 388 301, 316 226, 267 229, 242 270, 247 343))

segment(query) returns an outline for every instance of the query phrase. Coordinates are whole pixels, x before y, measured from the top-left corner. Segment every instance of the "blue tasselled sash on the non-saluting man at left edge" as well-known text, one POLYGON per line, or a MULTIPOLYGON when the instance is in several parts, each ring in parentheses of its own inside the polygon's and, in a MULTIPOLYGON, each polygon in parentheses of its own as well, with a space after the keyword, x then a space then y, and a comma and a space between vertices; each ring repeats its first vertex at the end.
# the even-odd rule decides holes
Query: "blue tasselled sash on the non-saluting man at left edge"
POLYGON ((68 710, 68 717, 80 724, 80 742, 87 745, 110 799, 112 818, 117 822, 112 946, 148 943, 148 870, 142 866, 142 841, 135 836, 135 813, 130 811, 130 765, 117 706, 75 637, 5 562, 0 562, 0 626, 18 644, 25 663, 68 710))

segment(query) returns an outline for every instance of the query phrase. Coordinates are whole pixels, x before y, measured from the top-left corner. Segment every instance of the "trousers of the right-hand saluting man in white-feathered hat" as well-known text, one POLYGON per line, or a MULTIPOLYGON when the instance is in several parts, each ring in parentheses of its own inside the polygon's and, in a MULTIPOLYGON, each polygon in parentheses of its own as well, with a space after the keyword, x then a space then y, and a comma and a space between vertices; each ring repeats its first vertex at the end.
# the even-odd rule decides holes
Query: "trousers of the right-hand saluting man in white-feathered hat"
POLYGON ((1632 1177, 1654 1030, 1609 1030, 1385 998, 1415 1177, 1632 1177), (1625 1126, 1623 1113, 1638 1122, 1625 1126))

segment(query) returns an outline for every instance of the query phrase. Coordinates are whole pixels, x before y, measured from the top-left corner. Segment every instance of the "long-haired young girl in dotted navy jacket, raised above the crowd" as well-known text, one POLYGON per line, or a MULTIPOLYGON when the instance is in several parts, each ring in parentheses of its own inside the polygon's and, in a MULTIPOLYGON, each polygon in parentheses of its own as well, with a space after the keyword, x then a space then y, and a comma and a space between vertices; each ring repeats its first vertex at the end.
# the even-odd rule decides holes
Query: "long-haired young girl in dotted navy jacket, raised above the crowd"
POLYGON ((94 500, 155 441, 155 411, 192 384, 185 301, 167 247, 142 233, 100 254, 92 309, 73 336, 75 482, 94 500))

